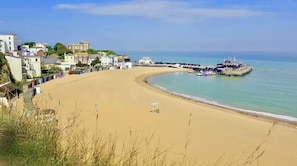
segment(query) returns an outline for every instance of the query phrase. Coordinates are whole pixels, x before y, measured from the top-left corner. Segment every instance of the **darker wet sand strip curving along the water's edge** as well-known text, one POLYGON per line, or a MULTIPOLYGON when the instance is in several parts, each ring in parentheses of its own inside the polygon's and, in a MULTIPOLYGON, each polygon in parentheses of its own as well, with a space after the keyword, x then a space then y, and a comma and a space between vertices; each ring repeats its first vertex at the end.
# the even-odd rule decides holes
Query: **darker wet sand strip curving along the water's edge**
MULTIPOLYGON (((195 99, 192 99, 190 97, 186 97, 186 96, 179 95, 177 93, 170 92, 168 90, 163 90, 162 88, 159 88, 159 87, 157 87, 157 86, 155 86, 153 84, 150 84, 148 82, 148 78, 152 77, 152 76, 162 75, 162 74, 166 74, 166 73, 174 73, 174 72, 186 72, 186 71, 188 71, 188 70, 172 71, 172 72, 171 71, 165 71, 165 72, 159 72, 159 73, 144 74, 144 75, 138 76, 135 80, 140 85, 142 85, 144 87, 147 87, 147 88, 149 88, 149 89, 151 89, 151 90, 153 90, 155 92, 159 92, 159 93, 171 96, 171 97, 186 100, 186 101, 189 101, 191 103, 197 103, 197 104, 200 104, 200 105, 203 105, 203 106, 206 106, 206 107, 208 107, 208 106, 216 107, 220 111, 224 111, 224 112, 228 112, 228 113, 235 113, 235 114, 238 114, 238 115, 248 116, 248 117, 251 117, 251 118, 254 118, 254 119, 270 122, 270 123, 273 123, 273 124, 279 124, 279 125, 284 125, 284 126, 288 126, 288 127, 292 127, 292 128, 297 128, 297 121, 290 121, 290 120, 287 120, 287 119, 281 119, 281 118, 277 118, 277 117, 273 117, 273 116, 269 116, 269 115, 264 115, 264 114, 261 114, 260 112, 256 112, 256 111, 252 111, 252 110, 250 110, 251 112, 248 112, 248 111, 240 110, 240 108, 231 108, 231 107, 224 106, 224 105, 212 104, 212 103, 203 102, 203 101, 200 101, 200 100, 195 100, 195 99)), ((268 113, 268 114, 277 115, 277 114, 272 114, 272 113, 268 113)), ((285 116, 285 115, 279 115, 279 116, 285 116)))

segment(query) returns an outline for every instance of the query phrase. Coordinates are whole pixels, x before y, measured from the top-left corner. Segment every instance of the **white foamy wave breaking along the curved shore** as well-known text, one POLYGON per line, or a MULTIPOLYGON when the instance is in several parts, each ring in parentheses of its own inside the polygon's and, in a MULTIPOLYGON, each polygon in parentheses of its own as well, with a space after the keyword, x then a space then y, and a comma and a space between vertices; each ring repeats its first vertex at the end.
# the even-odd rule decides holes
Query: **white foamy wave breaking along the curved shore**
POLYGON ((248 114, 252 114, 252 115, 259 115, 259 116, 268 117, 268 118, 275 118, 275 119, 283 120, 283 121, 287 121, 287 122, 297 122, 296 117, 287 116, 287 115, 278 115, 278 114, 273 114, 273 113, 268 113, 268 112, 259 112, 259 111, 254 111, 254 110, 247 110, 247 109, 242 109, 242 108, 236 108, 236 107, 232 107, 232 106, 228 106, 228 105, 218 103, 216 101, 207 100, 205 98, 201 98, 201 97, 198 97, 198 96, 191 96, 191 95, 182 94, 182 93, 178 93, 178 92, 174 92, 174 91, 169 91, 168 89, 166 89, 166 88, 164 88, 162 86, 152 84, 151 82, 148 82, 148 83, 150 85, 154 86, 155 88, 160 89, 162 91, 165 91, 165 92, 177 95, 177 96, 181 96, 183 98, 191 99, 191 100, 194 100, 194 101, 219 106, 219 107, 222 107, 222 108, 232 109, 232 110, 236 110, 236 111, 239 111, 239 112, 242 112, 242 113, 248 113, 248 114))

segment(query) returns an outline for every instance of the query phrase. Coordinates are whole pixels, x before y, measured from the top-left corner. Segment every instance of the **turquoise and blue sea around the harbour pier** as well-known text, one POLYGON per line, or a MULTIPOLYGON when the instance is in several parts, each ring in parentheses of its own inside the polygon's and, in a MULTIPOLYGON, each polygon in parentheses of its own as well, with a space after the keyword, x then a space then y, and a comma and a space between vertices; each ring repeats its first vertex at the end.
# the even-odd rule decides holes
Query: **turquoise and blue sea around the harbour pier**
POLYGON ((297 53, 126 51, 132 61, 147 56, 154 62, 216 65, 234 59, 252 66, 243 77, 197 76, 188 72, 151 76, 162 90, 242 112, 297 122, 297 53))

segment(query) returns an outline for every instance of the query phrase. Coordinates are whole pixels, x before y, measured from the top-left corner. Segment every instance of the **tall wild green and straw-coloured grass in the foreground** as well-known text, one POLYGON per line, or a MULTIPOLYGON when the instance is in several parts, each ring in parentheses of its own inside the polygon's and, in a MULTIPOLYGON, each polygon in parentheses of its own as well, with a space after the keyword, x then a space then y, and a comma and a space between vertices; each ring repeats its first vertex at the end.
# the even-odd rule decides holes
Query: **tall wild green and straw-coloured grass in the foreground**
POLYGON ((169 162, 166 150, 153 145, 153 135, 140 138, 130 131, 123 145, 112 134, 94 136, 90 143, 75 119, 60 129, 53 123, 13 115, 11 110, 0 111, 0 156, 9 165, 191 165, 185 159, 169 162))

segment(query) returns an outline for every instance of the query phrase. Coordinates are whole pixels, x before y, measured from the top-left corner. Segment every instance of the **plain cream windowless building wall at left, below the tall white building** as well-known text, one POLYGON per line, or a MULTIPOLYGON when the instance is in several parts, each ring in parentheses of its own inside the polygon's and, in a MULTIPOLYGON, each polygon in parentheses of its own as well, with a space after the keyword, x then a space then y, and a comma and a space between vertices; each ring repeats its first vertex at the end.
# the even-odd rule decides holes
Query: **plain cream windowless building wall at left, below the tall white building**
POLYGON ((11 74, 17 81, 22 81, 23 79, 23 72, 22 72, 22 59, 20 57, 16 57, 13 55, 6 55, 5 56, 9 67, 11 74))

